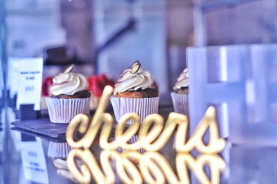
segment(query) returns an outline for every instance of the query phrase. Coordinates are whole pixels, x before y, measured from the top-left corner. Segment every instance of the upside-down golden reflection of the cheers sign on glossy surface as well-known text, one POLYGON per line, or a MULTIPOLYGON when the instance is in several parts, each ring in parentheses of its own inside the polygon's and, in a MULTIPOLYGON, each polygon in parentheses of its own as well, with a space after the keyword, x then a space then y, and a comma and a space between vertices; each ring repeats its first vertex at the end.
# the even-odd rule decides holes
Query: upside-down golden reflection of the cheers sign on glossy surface
POLYGON ((165 156, 152 151, 141 154, 138 151, 103 150, 99 157, 98 165, 89 149, 73 149, 67 158, 69 170, 80 183, 92 179, 96 183, 115 183, 112 163, 123 183, 190 183, 190 174, 194 174, 199 183, 220 183, 220 173, 226 167, 217 154, 201 154, 194 158, 191 154, 179 153, 175 157, 175 167, 170 166, 165 156), (209 167, 210 176, 204 166, 209 167))

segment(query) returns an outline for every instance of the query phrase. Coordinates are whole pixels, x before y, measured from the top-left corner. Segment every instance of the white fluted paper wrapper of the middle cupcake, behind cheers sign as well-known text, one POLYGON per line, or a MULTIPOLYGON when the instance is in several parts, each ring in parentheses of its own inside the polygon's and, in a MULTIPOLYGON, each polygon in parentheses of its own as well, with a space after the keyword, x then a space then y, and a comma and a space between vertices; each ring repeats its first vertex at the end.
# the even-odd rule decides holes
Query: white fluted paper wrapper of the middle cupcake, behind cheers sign
MULTIPOLYGON (((146 116, 158 113, 159 97, 156 98, 116 98, 111 96, 111 105, 114 109, 114 116, 118 122, 126 113, 138 113, 141 116, 141 123, 146 116)), ((127 125, 132 124, 132 120, 127 125)))

